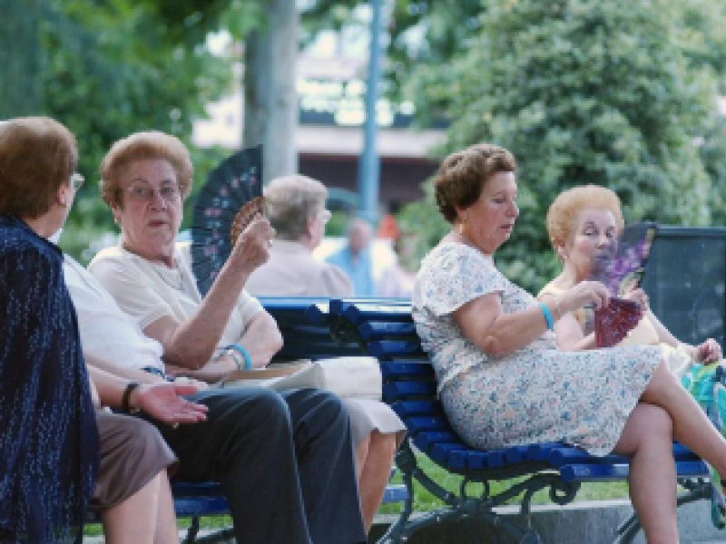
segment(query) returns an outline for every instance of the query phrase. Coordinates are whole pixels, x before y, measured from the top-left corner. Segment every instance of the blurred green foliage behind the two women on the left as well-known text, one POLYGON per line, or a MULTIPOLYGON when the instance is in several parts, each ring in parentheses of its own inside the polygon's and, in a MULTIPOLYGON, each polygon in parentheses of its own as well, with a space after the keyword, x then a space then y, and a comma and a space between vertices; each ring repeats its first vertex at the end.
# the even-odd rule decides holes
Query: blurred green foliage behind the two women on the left
POLYGON ((229 91, 231 70, 204 44, 180 44, 178 30, 172 32, 148 5, 131 0, 47 2, 44 112, 76 134, 79 171, 87 180, 62 246, 85 259, 83 249, 113 230, 98 191, 98 165, 113 141, 133 131, 172 133, 190 146, 199 183, 222 155, 191 146, 191 122, 206 117, 205 104, 229 91))

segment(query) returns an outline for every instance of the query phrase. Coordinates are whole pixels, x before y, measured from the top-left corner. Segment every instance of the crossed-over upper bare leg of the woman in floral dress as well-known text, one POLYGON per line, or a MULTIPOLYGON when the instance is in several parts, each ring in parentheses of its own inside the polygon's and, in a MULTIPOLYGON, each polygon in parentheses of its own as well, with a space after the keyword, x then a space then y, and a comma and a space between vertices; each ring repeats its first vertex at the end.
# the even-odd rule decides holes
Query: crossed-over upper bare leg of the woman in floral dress
POLYGON ((652 374, 641 401, 661 406, 670 413, 673 438, 726 476, 726 440, 664 364, 652 374))

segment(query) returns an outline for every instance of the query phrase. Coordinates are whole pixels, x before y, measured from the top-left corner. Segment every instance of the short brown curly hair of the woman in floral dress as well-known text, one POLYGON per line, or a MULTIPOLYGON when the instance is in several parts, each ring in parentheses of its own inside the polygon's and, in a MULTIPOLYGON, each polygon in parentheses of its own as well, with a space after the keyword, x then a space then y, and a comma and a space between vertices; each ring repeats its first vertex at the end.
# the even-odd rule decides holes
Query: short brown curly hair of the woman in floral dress
POLYGON ((515 156, 490 143, 479 143, 452 153, 441 163, 434 178, 434 192, 441 215, 449 223, 454 223, 456 208, 466 209, 474 204, 495 173, 515 171, 515 156))

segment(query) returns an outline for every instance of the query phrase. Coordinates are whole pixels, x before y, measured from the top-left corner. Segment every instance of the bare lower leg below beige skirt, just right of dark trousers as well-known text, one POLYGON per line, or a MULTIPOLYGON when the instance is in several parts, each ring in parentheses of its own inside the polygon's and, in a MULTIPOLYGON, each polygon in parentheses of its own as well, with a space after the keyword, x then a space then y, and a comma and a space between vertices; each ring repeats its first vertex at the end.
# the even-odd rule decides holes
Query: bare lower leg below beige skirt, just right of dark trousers
POLYGON ((358 476, 360 510, 366 532, 373 525, 373 518, 386 492, 393 456, 396 453, 396 434, 373 431, 368 440, 368 455, 358 476))

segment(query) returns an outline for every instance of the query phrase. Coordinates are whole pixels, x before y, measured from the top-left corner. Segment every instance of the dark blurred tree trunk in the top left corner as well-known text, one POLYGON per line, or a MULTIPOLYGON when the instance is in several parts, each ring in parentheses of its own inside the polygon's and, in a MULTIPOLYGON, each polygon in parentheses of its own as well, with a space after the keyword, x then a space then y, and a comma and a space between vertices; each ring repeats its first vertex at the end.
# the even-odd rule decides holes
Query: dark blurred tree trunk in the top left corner
POLYGON ((0 119, 42 111, 43 0, 4 0, 0 16, 0 119))

